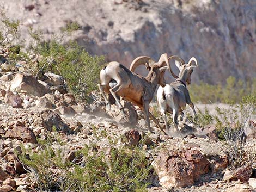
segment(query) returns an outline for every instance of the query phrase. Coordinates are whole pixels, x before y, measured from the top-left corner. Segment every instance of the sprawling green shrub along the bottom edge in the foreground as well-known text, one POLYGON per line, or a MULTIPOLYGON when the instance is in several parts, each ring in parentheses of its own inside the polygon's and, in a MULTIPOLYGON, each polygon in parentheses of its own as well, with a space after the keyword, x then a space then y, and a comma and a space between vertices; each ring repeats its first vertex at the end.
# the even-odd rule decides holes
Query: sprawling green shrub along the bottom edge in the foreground
POLYGON ((61 148, 39 142, 42 150, 22 148, 19 159, 32 172, 38 191, 146 191, 153 173, 142 147, 84 146, 76 151, 80 160, 63 160, 61 148), (107 154, 106 154, 106 151, 107 154))

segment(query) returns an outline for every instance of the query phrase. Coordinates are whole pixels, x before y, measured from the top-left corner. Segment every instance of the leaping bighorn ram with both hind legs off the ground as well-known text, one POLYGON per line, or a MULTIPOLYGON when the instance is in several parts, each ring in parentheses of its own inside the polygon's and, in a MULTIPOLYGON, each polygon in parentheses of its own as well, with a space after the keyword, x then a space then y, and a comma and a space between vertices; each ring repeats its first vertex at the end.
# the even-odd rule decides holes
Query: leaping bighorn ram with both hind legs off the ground
POLYGON ((137 57, 132 61, 130 70, 115 61, 108 63, 100 71, 100 84, 98 84, 100 92, 105 99, 106 106, 110 109, 105 92, 113 95, 119 109, 124 113, 123 106, 121 106, 118 98, 118 96, 121 96, 125 100, 137 105, 144 112, 149 132, 153 132, 150 127, 149 117, 164 132, 157 119, 149 112, 149 103, 153 98, 157 84, 166 86, 164 71, 169 66, 166 53, 162 54, 157 62, 150 57, 137 57), (147 77, 137 75, 134 72, 139 65, 145 65, 149 70, 147 77))

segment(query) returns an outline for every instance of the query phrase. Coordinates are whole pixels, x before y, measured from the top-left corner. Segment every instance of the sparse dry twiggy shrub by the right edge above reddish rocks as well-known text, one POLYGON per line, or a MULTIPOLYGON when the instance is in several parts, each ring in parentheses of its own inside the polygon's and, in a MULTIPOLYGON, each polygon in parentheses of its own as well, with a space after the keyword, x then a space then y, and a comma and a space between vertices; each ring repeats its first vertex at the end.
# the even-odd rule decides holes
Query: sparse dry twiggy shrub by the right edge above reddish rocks
POLYGON ((249 120, 255 115, 256 96, 248 95, 239 104, 230 104, 227 109, 216 107, 216 121, 219 137, 223 140, 223 151, 230 160, 230 167, 237 168, 248 163, 244 146, 249 120))

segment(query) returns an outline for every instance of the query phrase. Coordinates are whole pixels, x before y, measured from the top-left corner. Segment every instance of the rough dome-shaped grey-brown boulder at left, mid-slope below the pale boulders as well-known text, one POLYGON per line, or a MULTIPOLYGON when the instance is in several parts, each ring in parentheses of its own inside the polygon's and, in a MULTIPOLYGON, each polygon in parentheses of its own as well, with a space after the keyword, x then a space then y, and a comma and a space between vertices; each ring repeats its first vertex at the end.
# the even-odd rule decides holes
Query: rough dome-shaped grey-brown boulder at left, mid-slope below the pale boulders
POLYGON ((42 112, 35 117, 33 125, 44 127, 48 131, 53 131, 52 128, 56 127, 57 131, 71 132, 71 129, 62 121, 59 114, 49 109, 42 110, 42 112))

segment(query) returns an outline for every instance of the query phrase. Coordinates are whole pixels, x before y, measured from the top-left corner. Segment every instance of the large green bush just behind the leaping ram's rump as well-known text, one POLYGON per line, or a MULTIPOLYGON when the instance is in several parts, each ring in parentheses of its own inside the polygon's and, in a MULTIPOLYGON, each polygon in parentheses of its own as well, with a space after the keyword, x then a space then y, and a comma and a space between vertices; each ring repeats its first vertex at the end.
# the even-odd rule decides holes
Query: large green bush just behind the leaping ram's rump
POLYGON ((47 42, 41 41, 40 32, 31 29, 30 34, 34 43, 29 49, 42 56, 35 72, 51 71, 63 76, 69 91, 76 98, 86 100, 89 92, 95 90, 99 82, 99 73, 104 57, 90 55, 76 41, 70 40, 64 44, 63 36, 77 28, 77 23, 70 23, 66 29, 63 29, 62 36, 55 36, 47 42))

